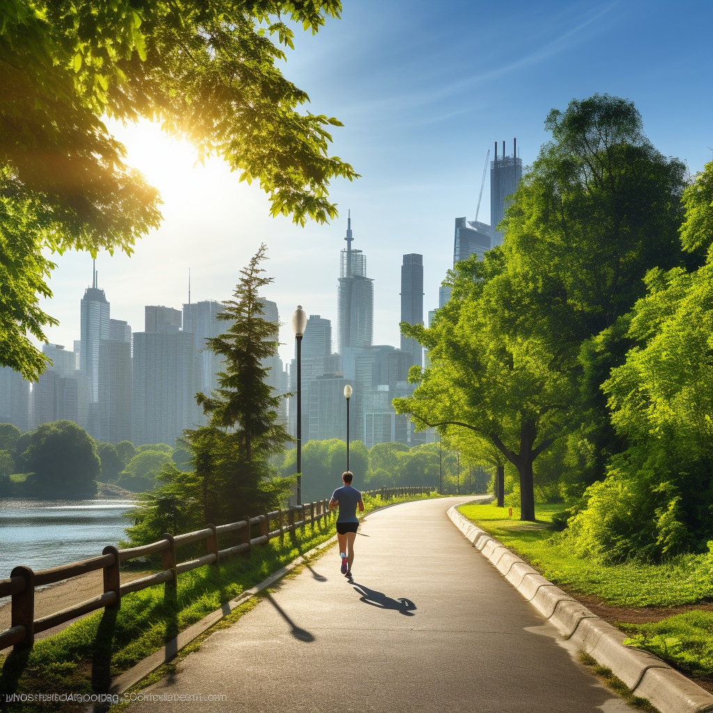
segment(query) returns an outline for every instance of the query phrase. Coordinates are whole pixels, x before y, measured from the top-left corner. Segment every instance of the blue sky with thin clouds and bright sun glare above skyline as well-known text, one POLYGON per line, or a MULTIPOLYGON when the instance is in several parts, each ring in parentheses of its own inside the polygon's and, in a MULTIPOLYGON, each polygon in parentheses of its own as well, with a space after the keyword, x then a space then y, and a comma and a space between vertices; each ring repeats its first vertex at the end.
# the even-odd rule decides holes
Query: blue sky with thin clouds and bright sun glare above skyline
MULTIPOLYGON (((97 261, 115 319, 143 330, 143 306, 179 307, 230 296, 260 242, 286 326, 297 304, 333 320, 347 209, 354 247, 364 250, 375 294, 379 344, 399 344, 399 279, 406 252, 424 255, 424 311, 437 306, 451 265, 453 219, 473 220, 488 148, 513 137, 531 163, 549 136, 550 109, 594 93, 629 98, 662 153, 691 173, 711 160, 713 4, 704 1, 602 3, 346 0, 342 19, 317 36, 299 34, 284 73, 309 93, 309 111, 336 116, 333 153, 361 174, 339 180, 331 225, 300 228, 268 215, 255 186, 222 163, 194 167, 190 147, 155 125, 116 127, 129 161, 165 201, 164 222, 135 255, 97 261)), ((498 149, 499 150, 499 149, 498 149)), ((492 156, 491 156, 492 158, 492 156)), ((489 222, 486 177, 479 220, 489 222)), ((61 320, 51 342, 79 337, 79 300, 91 283, 86 254, 58 258, 48 312, 61 320)), ((425 317, 425 315, 424 315, 425 317)), ((336 345, 335 345, 336 346, 336 345)))

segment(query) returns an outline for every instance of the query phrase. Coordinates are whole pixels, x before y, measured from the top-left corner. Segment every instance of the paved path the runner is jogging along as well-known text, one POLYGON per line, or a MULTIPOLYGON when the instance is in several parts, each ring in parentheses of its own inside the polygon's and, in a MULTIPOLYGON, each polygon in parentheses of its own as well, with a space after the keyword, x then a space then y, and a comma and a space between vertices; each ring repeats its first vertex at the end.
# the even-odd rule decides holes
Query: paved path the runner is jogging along
POLYGON ((589 713, 630 711, 446 517, 469 498, 371 513, 354 581, 336 547, 284 580, 132 712, 589 713))

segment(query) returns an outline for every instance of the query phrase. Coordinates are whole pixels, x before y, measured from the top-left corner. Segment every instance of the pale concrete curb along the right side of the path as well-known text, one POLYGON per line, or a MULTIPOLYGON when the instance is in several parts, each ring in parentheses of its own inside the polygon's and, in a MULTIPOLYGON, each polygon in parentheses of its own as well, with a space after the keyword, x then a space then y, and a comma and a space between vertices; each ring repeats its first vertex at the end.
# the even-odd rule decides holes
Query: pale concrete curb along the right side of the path
POLYGON ((558 631, 612 670, 636 696, 661 713, 712 713, 713 695, 646 651, 622 644, 626 636, 539 575, 453 506, 448 518, 515 589, 558 631))

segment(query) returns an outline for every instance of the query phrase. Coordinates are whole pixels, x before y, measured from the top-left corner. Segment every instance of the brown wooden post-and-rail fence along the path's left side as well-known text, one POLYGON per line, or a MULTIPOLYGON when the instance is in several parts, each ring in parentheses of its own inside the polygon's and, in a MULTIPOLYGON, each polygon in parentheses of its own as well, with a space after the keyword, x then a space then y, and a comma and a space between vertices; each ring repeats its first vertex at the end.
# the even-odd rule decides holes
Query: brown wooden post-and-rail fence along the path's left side
MULTIPOLYGON (((389 500, 399 496, 428 494, 432 490, 433 488, 379 488, 379 490, 365 491, 364 495, 379 495, 382 500, 389 500)), ((304 527, 307 524, 311 524, 314 529, 314 525, 320 520, 326 524, 329 517, 334 514, 336 511, 329 510, 329 499, 327 498, 255 517, 245 515, 237 523, 217 526, 205 525, 205 528, 193 533, 175 536, 165 534, 162 540, 141 547, 118 550, 113 545, 107 545, 98 557, 39 572, 34 572, 25 565, 19 565, 12 570, 9 579, 0 580, 0 597, 12 597, 11 625, 8 630, 0 632, 0 650, 9 646, 12 646, 15 651, 29 648, 34 644, 35 634, 97 609, 104 607, 118 609, 121 597, 155 584, 165 583, 168 588, 175 588, 178 584, 178 575, 184 572, 195 570, 203 565, 217 567, 220 560, 231 555, 241 554, 250 557, 250 549, 253 546, 267 545, 272 538, 294 532, 296 528, 302 528, 304 532, 304 527), (253 538, 252 528, 255 525, 260 525, 260 535, 253 538), (271 527, 274 529, 270 529, 271 527), (240 533, 242 541, 239 545, 220 550, 218 548, 219 536, 230 532, 240 533), (205 540, 206 554, 193 560, 178 562, 176 550, 200 540, 205 540), (161 553, 163 569, 160 572, 120 584, 120 563, 156 553, 161 553), (104 591, 101 595, 40 619, 34 618, 35 589, 37 587, 62 582, 96 570, 103 570, 104 591)))

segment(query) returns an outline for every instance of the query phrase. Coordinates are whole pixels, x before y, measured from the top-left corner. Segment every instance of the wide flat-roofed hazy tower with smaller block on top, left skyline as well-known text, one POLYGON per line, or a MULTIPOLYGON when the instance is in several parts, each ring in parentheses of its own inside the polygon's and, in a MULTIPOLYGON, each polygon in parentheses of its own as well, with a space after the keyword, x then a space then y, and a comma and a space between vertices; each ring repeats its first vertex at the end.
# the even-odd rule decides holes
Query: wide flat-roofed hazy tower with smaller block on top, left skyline
POLYGON ((198 351, 192 332, 180 332, 180 311, 146 307, 146 331, 133 335, 133 443, 168 443, 202 419, 195 402, 198 351), (178 316, 175 314, 178 313, 178 316), (158 331, 150 331, 150 327, 158 331))

